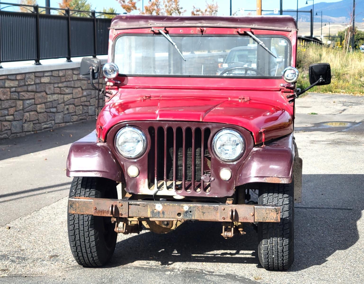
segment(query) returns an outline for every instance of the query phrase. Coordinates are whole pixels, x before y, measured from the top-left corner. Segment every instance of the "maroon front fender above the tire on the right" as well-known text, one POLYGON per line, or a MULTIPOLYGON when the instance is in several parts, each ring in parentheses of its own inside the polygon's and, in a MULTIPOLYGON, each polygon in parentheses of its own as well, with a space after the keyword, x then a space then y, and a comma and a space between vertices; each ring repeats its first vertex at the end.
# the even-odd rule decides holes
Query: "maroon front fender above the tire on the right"
POLYGON ((254 147, 235 176, 235 186, 254 182, 291 183, 293 158, 293 133, 264 147, 254 147))

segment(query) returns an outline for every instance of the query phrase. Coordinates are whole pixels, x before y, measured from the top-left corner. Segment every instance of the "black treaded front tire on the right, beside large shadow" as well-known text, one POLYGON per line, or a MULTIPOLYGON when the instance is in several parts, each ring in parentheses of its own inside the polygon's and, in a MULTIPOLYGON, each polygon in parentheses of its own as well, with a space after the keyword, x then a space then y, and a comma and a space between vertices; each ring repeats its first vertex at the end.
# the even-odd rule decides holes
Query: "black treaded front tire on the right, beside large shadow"
POLYGON ((279 223, 258 223, 258 257, 267 270, 286 270, 293 263, 293 200, 293 183, 266 184, 259 188, 258 204, 281 207, 279 223))

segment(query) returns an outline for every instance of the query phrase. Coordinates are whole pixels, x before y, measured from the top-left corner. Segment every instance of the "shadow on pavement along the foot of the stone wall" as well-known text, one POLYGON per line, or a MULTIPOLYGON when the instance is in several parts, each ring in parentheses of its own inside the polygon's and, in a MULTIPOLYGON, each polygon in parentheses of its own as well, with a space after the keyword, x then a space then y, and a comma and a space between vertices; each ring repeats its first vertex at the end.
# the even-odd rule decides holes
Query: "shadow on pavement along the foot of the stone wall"
POLYGON ((82 121, 53 131, 0 140, 0 160, 73 143, 94 131, 95 124, 95 120, 82 121))

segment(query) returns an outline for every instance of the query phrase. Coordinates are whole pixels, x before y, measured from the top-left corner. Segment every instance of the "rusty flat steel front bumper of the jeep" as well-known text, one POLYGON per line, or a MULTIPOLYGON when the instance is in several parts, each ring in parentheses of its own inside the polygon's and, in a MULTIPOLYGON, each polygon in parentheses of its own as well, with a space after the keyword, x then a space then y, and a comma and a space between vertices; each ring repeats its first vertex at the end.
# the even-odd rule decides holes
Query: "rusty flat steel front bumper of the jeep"
POLYGON ((105 217, 150 218, 150 220, 279 222, 281 208, 272 205, 74 197, 68 199, 68 212, 105 217))

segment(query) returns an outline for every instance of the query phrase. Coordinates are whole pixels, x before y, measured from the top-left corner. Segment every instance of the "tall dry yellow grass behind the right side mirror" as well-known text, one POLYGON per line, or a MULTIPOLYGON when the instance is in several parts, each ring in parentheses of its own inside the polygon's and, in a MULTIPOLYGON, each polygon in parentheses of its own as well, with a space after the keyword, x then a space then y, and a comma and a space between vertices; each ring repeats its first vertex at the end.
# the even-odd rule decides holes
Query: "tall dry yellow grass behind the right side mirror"
POLYGON ((313 63, 330 63, 331 84, 313 87, 313 92, 364 93, 364 53, 344 53, 341 48, 301 45, 297 50, 298 88, 309 86, 308 67, 313 63))

